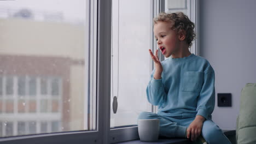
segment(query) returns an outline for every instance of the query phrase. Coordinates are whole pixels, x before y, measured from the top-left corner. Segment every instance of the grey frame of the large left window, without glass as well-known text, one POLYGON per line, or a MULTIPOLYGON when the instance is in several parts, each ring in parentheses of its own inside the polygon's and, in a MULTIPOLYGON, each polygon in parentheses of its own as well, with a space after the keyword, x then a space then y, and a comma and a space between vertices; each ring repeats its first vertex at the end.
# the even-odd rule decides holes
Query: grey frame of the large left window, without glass
MULTIPOLYGON (((110 50, 111 39, 106 37, 111 31, 111 0, 86 1, 86 9, 90 9, 90 21, 97 20, 97 31, 92 31, 97 40, 92 40, 90 49, 97 52, 97 85, 96 85, 96 130, 95 131, 67 131, 50 134, 34 134, 25 136, 3 137, 0 143, 109 143, 108 131, 110 126, 110 50), (90 5, 94 5, 93 8, 90 5), (94 9, 97 8, 97 9, 94 9), (91 13, 92 12, 92 13, 91 13), (108 97, 109 96, 109 97, 108 97), (108 103, 107 103, 108 102, 108 103), (109 119, 109 120, 107 120, 109 119)), ((90 26, 90 25, 89 25, 90 26)), ((90 29, 90 28, 89 28, 90 29)), ((89 30, 87 29, 87 30, 89 30)), ((90 37, 89 37, 89 41, 90 37)), ((94 81, 95 82, 95 81, 94 81)))

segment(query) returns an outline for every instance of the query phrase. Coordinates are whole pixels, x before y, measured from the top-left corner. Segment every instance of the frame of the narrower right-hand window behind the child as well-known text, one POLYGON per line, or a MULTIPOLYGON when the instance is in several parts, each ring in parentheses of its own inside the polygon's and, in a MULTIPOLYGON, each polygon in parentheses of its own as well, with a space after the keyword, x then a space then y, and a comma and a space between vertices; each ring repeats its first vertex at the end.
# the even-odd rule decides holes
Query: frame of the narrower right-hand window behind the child
MULTIPOLYGON (((198 37, 198 29, 199 29, 199 2, 197 0, 188 0, 190 1, 190 17, 191 21, 194 21, 196 24, 195 27, 195 33, 198 37)), ((158 15, 161 11, 165 11, 165 1, 161 0, 150 0, 150 9, 152 10, 152 14, 150 17, 155 17, 158 15)), ((154 52, 156 49, 158 49, 158 45, 156 43, 156 40, 154 38, 153 34, 153 23, 151 23, 151 29, 149 29, 150 37, 151 37, 151 43, 150 47, 151 50, 154 52)), ((191 52, 195 53, 195 55, 199 55, 199 41, 195 39, 193 46, 191 47, 191 52)), ((160 61, 164 61, 164 56, 160 55, 159 53, 160 61)), ((151 61, 150 65, 150 72, 154 69, 154 62, 150 58, 149 61, 151 61)), ((110 69, 110 67, 108 68, 110 69)), ((109 96, 110 97, 110 96, 109 96)), ((158 111, 157 106, 152 105, 152 112, 156 113, 158 111)), ((138 136, 138 127, 126 127, 126 128, 118 128, 118 129, 110 129, 110 135, 109 135, 109 142, 110 143, 116 143, 116 142, 122 142, 122 141, 129 141, 129 140, 136 140, 139 139, 138 136)))

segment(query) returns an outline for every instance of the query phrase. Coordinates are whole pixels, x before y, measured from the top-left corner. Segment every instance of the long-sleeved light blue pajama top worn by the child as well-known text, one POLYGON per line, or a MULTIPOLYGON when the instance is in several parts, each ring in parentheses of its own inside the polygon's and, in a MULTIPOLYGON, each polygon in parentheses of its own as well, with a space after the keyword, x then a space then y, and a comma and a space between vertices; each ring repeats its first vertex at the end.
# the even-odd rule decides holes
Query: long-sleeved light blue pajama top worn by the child
POLYGON ((154 79, 155 69, 147 86, 149 103, 158 106, 158 114, 168 117, 211 118, 215 104, 214 70, 200 56, 167 58, 161 62, 161 79, 154 79))

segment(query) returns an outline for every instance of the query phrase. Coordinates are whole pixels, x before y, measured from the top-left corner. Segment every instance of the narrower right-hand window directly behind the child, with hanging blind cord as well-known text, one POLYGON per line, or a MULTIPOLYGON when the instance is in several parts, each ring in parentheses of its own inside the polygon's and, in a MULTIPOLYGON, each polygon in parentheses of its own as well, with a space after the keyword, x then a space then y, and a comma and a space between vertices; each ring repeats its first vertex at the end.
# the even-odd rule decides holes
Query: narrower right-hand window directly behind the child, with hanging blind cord
MULTIPOLYGON (((191 19, 195 14, 195 6, 193 0, 113 1, 111 142, 125 141, 127 139, 123 135, 127 134, 130 139, 138 139, 133 135, 137 133, 137 129, 132 126, 137 124, 139 112, 157 112, 157 107, 148 105, 145 93, 153 70, 148 49, 154 51, 157 47, 153 37, 153 17, 160 11, 169 10, 168 12, 183 11, 191 19), (117 113, 112 110, 115 96, 119 99, 117 113)), ((195 47, 190 51, 195 53, 195 47)), ((161 55, 160 58, 164 60, 161 55)))

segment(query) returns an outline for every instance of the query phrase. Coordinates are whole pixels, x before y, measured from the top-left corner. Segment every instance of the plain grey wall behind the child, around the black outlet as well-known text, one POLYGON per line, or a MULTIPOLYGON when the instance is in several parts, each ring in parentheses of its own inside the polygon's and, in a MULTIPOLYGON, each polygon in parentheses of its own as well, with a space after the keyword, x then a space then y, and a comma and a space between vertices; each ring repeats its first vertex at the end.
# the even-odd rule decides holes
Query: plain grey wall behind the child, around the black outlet
POLYGON ((256 1, 201 0, 200 50, 216 73, 213 121, 235 129, 241 89, 256 82, 256 1), (217 93, 231 93, 232 107, 218 107, 217 93))

